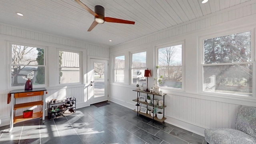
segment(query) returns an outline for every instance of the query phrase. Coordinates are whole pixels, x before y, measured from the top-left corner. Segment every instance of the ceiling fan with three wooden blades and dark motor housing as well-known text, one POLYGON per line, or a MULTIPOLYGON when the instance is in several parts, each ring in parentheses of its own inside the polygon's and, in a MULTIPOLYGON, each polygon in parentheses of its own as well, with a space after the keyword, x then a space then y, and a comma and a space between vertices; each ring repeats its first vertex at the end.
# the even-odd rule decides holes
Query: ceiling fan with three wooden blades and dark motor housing
POLYGON ((105 17, 105 9, 103 6, 95 6, 94 11, 92 11, 90 8, 88 8, 85 4, 83 4, 80 0, 75 0, 78 4, 80 4, 84 9, 86 9, 90 14, 94 16, 94 21, 92 22, 92 25, 87 30, 90 32, 97 24, 103 24, 104 22, 116 22, 116 23, 122 23, 122 24, 135 24, 135 22, 129 21, 129 20, 121 20, 118 18, 110 18, 105 17))

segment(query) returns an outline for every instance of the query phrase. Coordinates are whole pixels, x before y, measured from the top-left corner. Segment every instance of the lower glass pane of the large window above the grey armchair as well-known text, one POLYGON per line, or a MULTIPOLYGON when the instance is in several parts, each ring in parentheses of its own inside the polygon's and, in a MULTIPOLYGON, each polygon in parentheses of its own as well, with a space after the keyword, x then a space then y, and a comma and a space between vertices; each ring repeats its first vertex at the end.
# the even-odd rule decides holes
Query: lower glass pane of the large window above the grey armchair
POLYGON ((252 64, 204 66, 204 92, 252 96, 252 64))

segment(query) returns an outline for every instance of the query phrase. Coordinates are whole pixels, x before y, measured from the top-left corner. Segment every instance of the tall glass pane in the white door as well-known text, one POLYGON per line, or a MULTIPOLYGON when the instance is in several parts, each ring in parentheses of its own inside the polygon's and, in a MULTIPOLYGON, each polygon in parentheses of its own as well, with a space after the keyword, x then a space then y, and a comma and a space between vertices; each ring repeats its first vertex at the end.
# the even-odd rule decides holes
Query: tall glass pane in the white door
POLYGON ((94 98, 105 96, 105 64, 94 62, 94 98))

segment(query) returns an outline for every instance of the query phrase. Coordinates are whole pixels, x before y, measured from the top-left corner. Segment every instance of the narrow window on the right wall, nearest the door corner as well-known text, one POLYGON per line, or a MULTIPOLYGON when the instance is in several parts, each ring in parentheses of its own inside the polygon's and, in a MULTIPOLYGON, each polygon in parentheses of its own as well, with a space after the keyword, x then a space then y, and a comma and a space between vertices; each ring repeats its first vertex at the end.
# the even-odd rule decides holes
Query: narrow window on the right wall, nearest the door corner
POLYGON ((124 56, 115 57, 115 82, 124 82, 124 56))

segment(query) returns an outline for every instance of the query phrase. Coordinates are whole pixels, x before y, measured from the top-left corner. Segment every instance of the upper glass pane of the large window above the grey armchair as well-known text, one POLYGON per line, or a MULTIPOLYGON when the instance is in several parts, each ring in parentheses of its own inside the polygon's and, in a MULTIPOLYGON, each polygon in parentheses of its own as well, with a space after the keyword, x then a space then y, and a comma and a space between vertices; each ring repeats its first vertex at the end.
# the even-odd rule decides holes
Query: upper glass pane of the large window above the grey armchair
POLYGON ((250 61, 251 32, 204 40, 204 64, 250 61))

